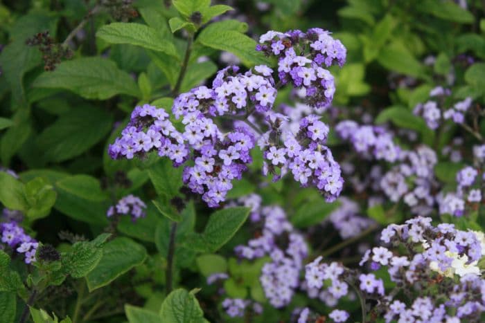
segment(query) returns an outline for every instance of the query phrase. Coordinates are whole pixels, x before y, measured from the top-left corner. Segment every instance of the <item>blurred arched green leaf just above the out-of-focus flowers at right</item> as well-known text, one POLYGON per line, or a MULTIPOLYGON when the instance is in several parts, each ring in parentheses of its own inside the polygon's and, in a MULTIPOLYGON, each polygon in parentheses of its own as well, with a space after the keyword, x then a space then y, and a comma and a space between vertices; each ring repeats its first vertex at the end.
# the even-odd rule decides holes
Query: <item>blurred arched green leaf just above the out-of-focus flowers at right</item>
POLYGON ((376 124, 382 124, 387 121, 391 121, 400 128, 411 129, 421 133, 423 142, 427 145, 432 145, 434 142, 434 132, 427 127, 425 121, 418 116, 414 116, 414 114, 405 107, 388 107, 378 114, 375 122, 376 124))

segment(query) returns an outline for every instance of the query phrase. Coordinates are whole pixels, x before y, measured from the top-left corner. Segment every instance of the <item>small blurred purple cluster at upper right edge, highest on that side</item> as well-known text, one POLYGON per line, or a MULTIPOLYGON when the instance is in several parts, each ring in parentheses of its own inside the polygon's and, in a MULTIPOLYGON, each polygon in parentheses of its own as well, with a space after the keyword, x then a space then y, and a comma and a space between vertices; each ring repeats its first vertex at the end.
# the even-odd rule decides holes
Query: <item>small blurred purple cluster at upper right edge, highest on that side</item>
POLYGON ((464 123, 465 113, 470 109, 472 98, 466 98, 450 105, 448 103, 450 94, 451 91, 449 89, 443 89, 441 86, 435 87, 430 91, 430 97, 433 100, 417 104, 414 107, 414 114, 421 116, 430 129, 438 128, 443 120, 452 120, 457 124, 464 123), (441 107, 445 110, 441 111, 441 107))

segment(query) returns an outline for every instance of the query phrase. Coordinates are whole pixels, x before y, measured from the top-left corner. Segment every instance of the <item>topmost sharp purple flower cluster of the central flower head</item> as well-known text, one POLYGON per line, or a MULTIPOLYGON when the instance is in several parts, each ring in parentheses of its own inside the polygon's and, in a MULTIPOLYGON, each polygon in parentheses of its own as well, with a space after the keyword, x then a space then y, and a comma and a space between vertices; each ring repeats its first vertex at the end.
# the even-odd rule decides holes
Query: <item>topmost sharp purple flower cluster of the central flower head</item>
POLYGON ((326 68, 333 64, 343 66, 346 48, 330 32, 310 28, 306 33, 290 30, 279 33, 270 30, 261 35, 256 50, 278 58, 278 75, 282 84, 292 83, 306 93, 306 103, 312 107, 327 107, 333 100, 335 84, 326 68))

